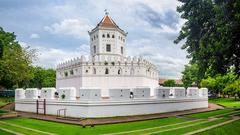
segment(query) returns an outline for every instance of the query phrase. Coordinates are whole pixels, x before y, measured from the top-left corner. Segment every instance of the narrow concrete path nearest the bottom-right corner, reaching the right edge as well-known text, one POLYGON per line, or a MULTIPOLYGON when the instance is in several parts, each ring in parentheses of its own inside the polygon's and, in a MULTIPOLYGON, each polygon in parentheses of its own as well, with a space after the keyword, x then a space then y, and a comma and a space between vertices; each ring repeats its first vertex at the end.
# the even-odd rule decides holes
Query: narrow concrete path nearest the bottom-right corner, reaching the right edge
POLYGON ((186 133, 184 135, 193 135, 193 134, 196 134, 196 133, 204 132, 204 131, 207 131, 207 130, 210 130, 210 129, 213 129, 213 128, 216 128, 216 127, 220 127, 220 126, 223 126, 225 124, 234 122, 234 121, 239 120, 239 119, 240 119, 240 117, 233 117, 232 120, 228 120, 228 121, 216 124, 216 125, 212 125, 212 126, 209 126, 209 127, 206 127, 206 128, 202 128, 202 129, 199 129, 199 130, 196 130, 196 131, 193 131, 193 132, 188 132, 188 133, 186 133))

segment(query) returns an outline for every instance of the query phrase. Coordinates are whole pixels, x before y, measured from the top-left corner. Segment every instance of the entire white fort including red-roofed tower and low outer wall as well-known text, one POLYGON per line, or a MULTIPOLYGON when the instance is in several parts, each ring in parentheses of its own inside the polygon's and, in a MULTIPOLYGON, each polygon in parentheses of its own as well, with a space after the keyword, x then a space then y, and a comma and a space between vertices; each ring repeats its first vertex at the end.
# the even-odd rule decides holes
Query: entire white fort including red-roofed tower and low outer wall
POLYGON ((208 107, 206 88, 160 87, 155 65, 142 57, 127 57, 127 33, 108 14, 89 35, 90 57, 60 63, 56 88, 16 89, 15 110, 112 117, 208 107))

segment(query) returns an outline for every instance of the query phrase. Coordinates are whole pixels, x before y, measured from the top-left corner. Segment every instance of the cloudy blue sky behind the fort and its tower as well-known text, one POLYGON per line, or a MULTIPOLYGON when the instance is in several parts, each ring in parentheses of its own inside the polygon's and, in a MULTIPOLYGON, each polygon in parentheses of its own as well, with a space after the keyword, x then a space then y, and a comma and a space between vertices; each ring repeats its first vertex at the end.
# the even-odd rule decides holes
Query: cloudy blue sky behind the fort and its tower
POLYGON ((157 65, 160 78, 179 79, 188 63, 186 51, 173 41, 184 20, 175 0, 1 0, 0 27, 19 43, 37 50, 34 65, 56 68, 71 58, 89 55, 88 31, 109 16, 128 32, 128 56, 143 56, 157 65))

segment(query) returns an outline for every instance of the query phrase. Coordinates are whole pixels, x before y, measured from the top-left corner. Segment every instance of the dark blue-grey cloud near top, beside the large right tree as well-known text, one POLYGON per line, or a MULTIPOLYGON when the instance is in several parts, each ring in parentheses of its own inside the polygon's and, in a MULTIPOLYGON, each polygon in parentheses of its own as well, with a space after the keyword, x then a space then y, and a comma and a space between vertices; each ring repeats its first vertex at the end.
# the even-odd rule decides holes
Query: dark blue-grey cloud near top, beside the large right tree
POLYGON ((142 3, 137 5, 136 15, 156 28, 163 28, 164 26, 167 26, 175 29, 179 23, 179 16, 176 11, 169 9, 163 13, 158 13, 150 6, 142 3))

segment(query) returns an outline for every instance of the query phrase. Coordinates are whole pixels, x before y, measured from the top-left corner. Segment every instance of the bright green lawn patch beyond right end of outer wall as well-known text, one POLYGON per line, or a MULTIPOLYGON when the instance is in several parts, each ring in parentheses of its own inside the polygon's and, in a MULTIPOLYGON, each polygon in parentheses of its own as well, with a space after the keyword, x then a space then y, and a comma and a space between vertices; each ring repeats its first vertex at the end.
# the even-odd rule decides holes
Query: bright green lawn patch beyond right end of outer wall
POLYGON ((240 108, 240 99, 234 98, 213 98, 209 102, 225 106, 227 108, 240 108))

